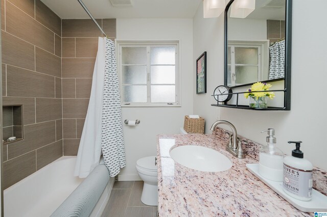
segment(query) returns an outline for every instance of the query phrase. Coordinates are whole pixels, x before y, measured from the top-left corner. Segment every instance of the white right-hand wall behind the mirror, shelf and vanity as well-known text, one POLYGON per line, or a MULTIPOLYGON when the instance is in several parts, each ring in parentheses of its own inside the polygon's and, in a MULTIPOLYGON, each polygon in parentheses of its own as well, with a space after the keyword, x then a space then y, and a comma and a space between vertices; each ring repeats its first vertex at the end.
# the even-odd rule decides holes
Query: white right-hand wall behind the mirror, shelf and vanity
POLYGON ((266 134, 260 131, 275 128, 277 146, 286 154, 291 154, 294 149, 287 141, 301 140, 305 158, 314 166, 327 170, 326 8, 325 0, 293 1, 291 111, 249 111, 209 105, 212 101, 209 95, 215 87, 223 84, 223 16, 203 19, 200 4, 193 21, 193 60, 200 50, 211 53, 207 76, 214 80, 210 82, 206 95, 194 95, 194 113, 206 117, 210 123, 216 120, 212 114, 215 113, 220 119, 235 124, 240 135, 261 144, 266 143, 266 134), (211 36, 201 40, 200 33, 211 36), (211 57, 213 54, 215 56, 211 57))

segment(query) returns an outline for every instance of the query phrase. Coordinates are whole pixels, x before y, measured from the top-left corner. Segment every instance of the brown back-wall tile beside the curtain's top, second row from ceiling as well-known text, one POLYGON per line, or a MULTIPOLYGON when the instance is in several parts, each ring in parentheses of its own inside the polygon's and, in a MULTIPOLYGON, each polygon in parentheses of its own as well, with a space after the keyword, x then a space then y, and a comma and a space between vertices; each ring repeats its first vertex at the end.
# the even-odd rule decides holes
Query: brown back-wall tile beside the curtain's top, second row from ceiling
POLYGON ((76 38, 76 57, 96 58, 98 38, 76 38))

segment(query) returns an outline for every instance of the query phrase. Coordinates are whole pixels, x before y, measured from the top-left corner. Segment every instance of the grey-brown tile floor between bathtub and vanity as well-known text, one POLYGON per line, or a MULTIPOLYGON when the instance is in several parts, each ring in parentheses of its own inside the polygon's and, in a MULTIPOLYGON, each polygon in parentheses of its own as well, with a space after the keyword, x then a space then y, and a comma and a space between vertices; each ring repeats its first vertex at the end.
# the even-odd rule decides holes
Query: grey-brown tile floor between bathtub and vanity
POLYGON ((155 217, 157 206, 142 203, 143 181, 117 181, 101 217, 155 217))

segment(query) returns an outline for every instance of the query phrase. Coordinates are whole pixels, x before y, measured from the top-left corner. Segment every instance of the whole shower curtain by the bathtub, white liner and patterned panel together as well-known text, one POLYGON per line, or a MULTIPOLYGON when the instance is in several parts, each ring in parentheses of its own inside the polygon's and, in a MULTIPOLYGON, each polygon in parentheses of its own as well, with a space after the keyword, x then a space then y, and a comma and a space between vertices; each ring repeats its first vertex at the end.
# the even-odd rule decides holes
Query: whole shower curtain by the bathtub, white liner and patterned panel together
POLYGON ((125 167, 122 115, 114 43, 99 37, 91 95, 78 149, 74 176, 85 178, 103 152, 111 177, 125 167))

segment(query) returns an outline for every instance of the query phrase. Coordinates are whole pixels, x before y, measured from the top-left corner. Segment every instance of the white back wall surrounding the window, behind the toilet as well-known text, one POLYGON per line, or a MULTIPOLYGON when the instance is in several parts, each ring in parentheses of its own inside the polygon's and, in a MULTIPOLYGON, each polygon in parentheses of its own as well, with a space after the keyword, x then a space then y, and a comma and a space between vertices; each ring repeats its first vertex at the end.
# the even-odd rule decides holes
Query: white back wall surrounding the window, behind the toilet
POLYGON ((136 160, 156 155, 156 135, 179 133, 184 115, 193 113, 192 19, 117 19, 117 40, 180 40, 181 107, 123 107, 123 120, 141 120, 129 127, 124 124, 126 167, 119 180, 137 180, 136 160))

